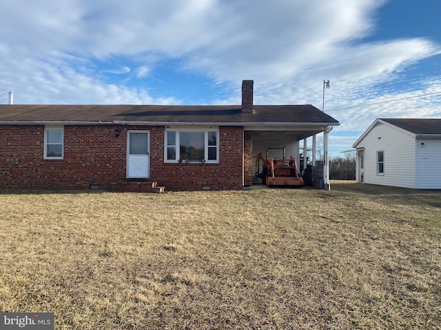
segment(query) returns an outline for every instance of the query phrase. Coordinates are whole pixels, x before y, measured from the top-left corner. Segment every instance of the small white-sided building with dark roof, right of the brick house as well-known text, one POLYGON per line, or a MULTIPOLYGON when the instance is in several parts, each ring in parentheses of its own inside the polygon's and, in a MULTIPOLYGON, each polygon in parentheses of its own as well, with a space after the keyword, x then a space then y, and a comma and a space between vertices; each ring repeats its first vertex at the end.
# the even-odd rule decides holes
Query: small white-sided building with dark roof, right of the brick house
POLYGON ((358 183, 441 189, 441 119, 378 118, 353 148, 358 183))

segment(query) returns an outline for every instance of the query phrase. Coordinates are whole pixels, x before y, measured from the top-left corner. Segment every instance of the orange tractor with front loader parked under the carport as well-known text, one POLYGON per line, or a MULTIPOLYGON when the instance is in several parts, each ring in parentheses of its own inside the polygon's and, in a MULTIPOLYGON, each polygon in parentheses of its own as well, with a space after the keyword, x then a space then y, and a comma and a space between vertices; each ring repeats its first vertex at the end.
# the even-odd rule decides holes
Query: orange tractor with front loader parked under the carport
POLYGON ((266 158, 263 158, 262 153, 259 153, 256 157, 256 167, 257 173, 256 178, 260 177, 262 181, 268 187, 271 186, 293 186, 301 187, 305 184, 302 177, 298 176, 298 169, 296 164, 296 159, 291 156, 289 160, 285 159, 285 147, 283 148, 267 148, 266 158), (269 157, 268 151, 270 150, 281 150, 283 151, 282 158, 269 157), (260 163, 262 163, 262 173, 259 173, 260 163))

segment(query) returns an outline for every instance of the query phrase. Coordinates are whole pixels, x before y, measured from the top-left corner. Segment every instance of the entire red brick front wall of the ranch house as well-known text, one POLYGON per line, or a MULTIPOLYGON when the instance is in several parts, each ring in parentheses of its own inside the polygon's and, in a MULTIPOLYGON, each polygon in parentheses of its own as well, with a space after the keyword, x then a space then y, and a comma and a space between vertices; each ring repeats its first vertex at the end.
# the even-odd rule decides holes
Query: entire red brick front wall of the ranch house
POLYGON ((43 159, 43 125, 1 125, 0 188, 110 188, 125 180, 127 129, 150 131, 150 179, 167 190, 242 188, 242 126, 219 128, 219 164, 165 164, 163 126, 113 125, 64 126, 64 159, 43 159))

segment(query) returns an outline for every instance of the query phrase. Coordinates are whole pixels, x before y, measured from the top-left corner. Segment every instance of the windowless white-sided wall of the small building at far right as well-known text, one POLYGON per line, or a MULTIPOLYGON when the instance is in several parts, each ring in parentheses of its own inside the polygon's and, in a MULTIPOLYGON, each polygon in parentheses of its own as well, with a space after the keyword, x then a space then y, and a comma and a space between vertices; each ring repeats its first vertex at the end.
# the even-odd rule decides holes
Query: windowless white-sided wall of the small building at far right
POLYGON ((441 189, 441 139, 416 140, 416 188, 441 189))

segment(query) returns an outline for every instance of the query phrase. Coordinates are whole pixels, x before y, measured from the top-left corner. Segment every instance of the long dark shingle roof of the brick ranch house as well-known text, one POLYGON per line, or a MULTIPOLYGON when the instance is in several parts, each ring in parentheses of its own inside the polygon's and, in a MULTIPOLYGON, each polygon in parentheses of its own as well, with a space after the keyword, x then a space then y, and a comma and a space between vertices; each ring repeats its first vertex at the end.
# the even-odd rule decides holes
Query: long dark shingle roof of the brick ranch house
POLYGON ((216 122, 326 123, 338 121, 312 105, 255 105, 243 113, 239 105, 0 105, 1 122, 216 122))

